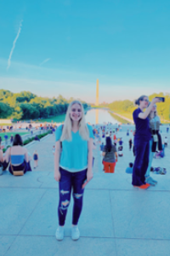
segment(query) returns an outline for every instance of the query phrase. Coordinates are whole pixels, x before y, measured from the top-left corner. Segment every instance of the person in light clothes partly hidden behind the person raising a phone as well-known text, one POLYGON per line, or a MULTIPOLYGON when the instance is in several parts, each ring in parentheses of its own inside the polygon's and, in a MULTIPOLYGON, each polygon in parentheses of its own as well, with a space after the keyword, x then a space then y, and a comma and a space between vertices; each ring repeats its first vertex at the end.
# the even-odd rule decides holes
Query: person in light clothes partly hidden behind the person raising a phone
POLYGON ((150 177, 150 167, 152 164, 154 153, 156 153, 156 148, 158 148, 159 151, 162 150, 161 134, 159 133, 161 122, 160 122, 159 116, 157 115, 156 104, 151 108, 151 111, 148 117, 150 120, 151 139, 150 139, 149 164, 148 164, 148 169, 145 173, 145 181, 146 183, 149 183, 151 186, 155 186, 157 181, 152 177, 150 177))

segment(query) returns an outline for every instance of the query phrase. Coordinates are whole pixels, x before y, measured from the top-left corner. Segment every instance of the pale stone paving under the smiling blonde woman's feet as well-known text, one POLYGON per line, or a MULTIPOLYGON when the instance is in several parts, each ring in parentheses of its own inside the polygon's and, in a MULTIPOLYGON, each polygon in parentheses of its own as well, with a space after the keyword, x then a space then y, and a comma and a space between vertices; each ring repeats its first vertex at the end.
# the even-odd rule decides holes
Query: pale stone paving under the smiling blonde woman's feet
MULTIPOLYGON (((0 177, 0 256, 169 256, 170 252, 170 147, 153 166, 167 167, 167 175, 155 175, 156 187, 141 191, 125 173, 133 153, 122 131, 124 153, 116 173, 99 168, 95 152, 94 178, 84 195, 79 223, 81 238, 71 240, 72 201, 65 223, 65 239, 56 241, 58 183, 54 180, 52 135, 33 143, 40 156, 39 172, 0 177)), ((169 136, 168 136, 169 137, 169 136)), ((170 137, 169 137, 170 141, 170 137)), ((101 166, 100 166, 101 167, 101 166)))

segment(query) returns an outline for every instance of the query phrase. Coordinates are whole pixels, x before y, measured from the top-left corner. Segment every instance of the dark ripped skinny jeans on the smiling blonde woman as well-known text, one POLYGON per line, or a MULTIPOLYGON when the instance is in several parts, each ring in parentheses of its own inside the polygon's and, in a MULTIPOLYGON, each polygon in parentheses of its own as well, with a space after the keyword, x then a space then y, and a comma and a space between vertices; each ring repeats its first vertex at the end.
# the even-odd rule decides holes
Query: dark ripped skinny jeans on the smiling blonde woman
POLYGON ((67 209, 71 202, 71 189, 73 189, 73 216, 72 224, 77 225, 82 212, 83 192, 82 184, 87 179, 87 169, 81 172, 68 172, 59 167, 61 178, 59 181, 59 225, 65 225, 65 217, 67 209))

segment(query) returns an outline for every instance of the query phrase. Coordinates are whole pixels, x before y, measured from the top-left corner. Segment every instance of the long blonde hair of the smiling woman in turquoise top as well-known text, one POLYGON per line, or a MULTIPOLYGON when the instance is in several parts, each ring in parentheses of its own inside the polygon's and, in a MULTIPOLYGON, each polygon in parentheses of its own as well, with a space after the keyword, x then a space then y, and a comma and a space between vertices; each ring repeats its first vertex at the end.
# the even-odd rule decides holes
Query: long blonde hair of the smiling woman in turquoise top
POLYGON ((67 112, 66 112, 66 116, 65 116, 65 123, 64 123, 64 127, 63 127, 63 132, 60 138, 60 141, 70 141, 72 140, 72 136, 71 136, 71 128, 72 128, 72 121, 71 121, 71 107, 74 104, 78 104, 81 106, 82 108, 82 119, 80 119, 79 121, 79 134, 82 137, 83 140, 88 141, 89 140, 89 131, 88 131, 88 126, 86 124, 86 120, 85 120, 85 114, 84 114, 84 108, 82 106, 82 102, 79 101, 73 101, 70 103, 67 112))

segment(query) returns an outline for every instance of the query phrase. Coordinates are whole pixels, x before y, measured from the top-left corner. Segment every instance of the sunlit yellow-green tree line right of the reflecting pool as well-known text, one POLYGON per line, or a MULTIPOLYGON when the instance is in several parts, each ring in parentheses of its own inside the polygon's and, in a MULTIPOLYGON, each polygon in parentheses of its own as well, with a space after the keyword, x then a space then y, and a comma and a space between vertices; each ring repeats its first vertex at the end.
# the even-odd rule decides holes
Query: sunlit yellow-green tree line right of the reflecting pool
MULTIPOLYGON (((159 94, 152 94, 149 96, 149 101, 154 97, 165 97, 165 102, 160 102, 157 103, 157 113, 160 116, 161 120, 170 120, 170 93, 163 93, 160 92, 159 94)), ((108 105, 108 107, 116 112, 116 113, 133 113, 134 109, 137 108, 135 106, 134 102, 131 102, 129 100, 124 100, 124 101, 116 101, 112 102, 111 104, 108 105)))

